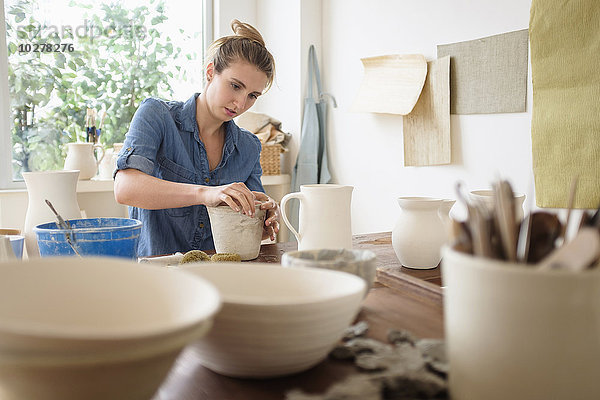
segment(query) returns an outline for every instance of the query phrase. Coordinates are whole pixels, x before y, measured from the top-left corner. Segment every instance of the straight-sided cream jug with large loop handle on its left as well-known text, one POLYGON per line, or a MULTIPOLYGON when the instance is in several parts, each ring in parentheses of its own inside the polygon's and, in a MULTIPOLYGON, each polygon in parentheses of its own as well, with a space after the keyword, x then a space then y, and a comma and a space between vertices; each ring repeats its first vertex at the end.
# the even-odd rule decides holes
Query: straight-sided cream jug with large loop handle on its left
POLYGON ((350 203, 352 186, 301 185, 300 192, 281 199, 283 222, 298 240, 298 250, 351 249, 352 225, 350 203), (300 201, 298 230, 290 223, 285 210, 291 199, 300 201))

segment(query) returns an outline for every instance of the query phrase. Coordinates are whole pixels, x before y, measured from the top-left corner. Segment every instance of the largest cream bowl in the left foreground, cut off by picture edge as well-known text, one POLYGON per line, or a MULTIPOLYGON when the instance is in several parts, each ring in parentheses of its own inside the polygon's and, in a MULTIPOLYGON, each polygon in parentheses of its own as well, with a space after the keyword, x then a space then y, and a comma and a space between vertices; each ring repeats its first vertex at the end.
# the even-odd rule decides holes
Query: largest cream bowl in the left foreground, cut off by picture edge
POLYGON ((115 258, 0 264, 2 399, 149 399, 220 307, 214 286, 115 258))

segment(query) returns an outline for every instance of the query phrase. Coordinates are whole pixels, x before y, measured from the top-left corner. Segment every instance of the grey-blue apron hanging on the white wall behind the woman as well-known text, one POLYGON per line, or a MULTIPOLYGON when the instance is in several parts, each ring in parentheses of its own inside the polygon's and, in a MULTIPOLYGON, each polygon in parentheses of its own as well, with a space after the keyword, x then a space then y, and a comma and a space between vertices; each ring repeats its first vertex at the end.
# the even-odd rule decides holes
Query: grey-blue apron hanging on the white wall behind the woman
MULTIPOLYGON (((335 98, 323 92, 321 74, 315 54, 315 47, 308 51, 308 82, 304 99, 304 116, 302 119, 302 139, 292 171, 291 191, 300 191, 300 185, 329 183, 331 175, 327 163, 327 98, 331 97, 333 106, 337 107, 335 98), (313 93, 314 81, 317 84, 317 98, 313 93)), ((290 221, 298 226, 298 204, 290 204, 290 221)))

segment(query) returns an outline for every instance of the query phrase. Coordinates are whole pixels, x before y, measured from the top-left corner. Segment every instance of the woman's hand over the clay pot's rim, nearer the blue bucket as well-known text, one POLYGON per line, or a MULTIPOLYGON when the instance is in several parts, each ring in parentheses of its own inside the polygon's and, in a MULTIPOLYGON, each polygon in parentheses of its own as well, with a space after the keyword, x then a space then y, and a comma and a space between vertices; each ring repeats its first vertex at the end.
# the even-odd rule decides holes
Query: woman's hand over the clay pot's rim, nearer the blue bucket
POLYGON ((225 203, 237 212, 243 212, 249 217, 254 216, 256 196, 241 182, 222 186, 204 186, 203 191, 202 204, 208 207, 216 207, 225 203))

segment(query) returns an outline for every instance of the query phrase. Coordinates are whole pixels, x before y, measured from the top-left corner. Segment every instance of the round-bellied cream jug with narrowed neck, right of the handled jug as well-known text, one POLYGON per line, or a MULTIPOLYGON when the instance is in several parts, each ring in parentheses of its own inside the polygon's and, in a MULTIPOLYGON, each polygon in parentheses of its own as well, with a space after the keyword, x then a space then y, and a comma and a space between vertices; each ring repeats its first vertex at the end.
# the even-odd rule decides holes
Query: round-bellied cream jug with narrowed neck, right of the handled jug
POLYGON ((403 266, 435 268, 448 242, 448 213, 454 200, 399 197, 400 216, 392 230, 392 246, 403 266))

